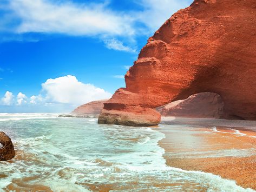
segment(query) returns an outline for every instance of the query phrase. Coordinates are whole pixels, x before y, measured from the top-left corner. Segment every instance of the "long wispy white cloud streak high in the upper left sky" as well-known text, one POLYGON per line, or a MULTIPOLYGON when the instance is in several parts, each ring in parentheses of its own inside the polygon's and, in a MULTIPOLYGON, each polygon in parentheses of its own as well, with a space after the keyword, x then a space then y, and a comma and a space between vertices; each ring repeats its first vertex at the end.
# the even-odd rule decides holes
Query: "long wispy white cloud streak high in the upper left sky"
POLYGON ((109 10, 106 3, 75 4, 49 0, 12 0, 9 8, 22 22, 17 32, 68 35, 133 35, 132 18, 109 10))

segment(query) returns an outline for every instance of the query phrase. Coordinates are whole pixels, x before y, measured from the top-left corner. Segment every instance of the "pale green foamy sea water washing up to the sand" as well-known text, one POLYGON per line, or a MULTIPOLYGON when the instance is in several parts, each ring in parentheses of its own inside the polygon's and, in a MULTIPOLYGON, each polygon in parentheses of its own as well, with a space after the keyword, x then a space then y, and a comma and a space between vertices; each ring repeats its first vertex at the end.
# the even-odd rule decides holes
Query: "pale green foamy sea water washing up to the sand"
MULTIPOLYGON (((165 125, 168 126, 168 125, 165 125)), ((167 167, 164 134, 95 118, 0 114, 16 157, 0 162, 0 191, 252 191, 200 171, 167 167)))

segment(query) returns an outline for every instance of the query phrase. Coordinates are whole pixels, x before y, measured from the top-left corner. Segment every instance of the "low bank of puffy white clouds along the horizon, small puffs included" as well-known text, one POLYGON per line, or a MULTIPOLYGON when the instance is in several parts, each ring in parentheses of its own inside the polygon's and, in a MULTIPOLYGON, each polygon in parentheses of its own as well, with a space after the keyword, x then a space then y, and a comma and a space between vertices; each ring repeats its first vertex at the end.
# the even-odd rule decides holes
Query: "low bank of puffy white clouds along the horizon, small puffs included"
POLYGON ((6 91, 1 99, 1 104, 18 106, 25 104, 27 107, 31 105, 45 109, 65 106, 65 108, 73 110, 78 105, 110 98, 111 95, 104 89, 95 87, 93 84, 82 83, 75 76, 67 75, 49 78, 42 83, 41 94, 32 95, 29 98, 22 92, 15 97, 12 92, 6 91), (15 100, 16 102, 14 102, 15 100))

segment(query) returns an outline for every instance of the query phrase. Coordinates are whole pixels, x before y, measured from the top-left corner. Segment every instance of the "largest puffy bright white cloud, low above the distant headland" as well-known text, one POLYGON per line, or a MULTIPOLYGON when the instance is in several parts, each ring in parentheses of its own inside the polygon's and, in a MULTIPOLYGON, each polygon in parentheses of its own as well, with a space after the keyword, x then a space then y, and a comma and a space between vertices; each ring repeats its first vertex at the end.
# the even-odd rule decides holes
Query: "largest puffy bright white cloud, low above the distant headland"
POLYGON ((92 84, 79 82, 75 76, 67 75, 48 79, 42 84, 47 102, 84 104, 111 97, 111 94, 92 84))

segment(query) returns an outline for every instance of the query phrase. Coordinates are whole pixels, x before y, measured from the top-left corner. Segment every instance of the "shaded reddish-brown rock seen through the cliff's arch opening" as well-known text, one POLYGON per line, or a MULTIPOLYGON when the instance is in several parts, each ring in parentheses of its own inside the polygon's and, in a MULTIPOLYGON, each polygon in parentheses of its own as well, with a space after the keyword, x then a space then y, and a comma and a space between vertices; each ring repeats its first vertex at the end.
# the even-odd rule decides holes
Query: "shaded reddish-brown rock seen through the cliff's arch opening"
POLYGON ((224 102, 220 95, 201 92, 186 100, 178 100, 156 108, 162 116, 220 118, 223 116, 224 102))

